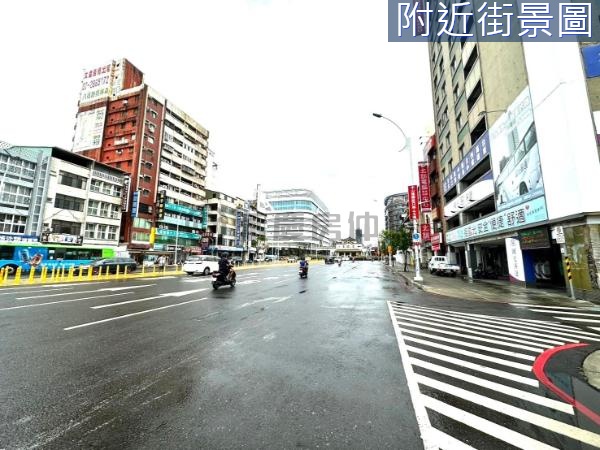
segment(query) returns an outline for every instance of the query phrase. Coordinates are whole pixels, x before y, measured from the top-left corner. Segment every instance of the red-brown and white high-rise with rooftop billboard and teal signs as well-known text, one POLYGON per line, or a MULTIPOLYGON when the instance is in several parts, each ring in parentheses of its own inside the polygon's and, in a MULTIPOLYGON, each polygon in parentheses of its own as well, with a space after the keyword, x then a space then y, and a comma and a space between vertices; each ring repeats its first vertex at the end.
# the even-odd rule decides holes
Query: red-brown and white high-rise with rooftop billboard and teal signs
POLYGON ((85 71, 73 151, 129 175, 120 239, 130 253, 200 251, 208 136, 128 60, 85 71))

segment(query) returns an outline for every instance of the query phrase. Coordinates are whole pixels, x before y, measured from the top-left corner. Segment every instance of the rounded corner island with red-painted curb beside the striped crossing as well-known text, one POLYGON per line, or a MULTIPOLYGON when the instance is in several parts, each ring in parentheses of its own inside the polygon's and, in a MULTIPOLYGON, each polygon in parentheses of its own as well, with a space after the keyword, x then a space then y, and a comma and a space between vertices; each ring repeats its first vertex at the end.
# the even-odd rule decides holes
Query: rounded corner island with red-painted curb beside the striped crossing
POLYGON ((600 343, 569 343, 549 348, 533 365, 547 391, 574 408, 580 426, 600 431, 600 343))

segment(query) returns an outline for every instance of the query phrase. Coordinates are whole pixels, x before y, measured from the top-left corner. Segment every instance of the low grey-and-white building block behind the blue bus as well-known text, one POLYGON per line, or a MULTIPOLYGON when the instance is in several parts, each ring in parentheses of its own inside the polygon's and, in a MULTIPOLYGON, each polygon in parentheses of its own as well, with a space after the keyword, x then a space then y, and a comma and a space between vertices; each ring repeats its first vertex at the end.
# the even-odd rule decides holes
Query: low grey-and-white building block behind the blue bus
POLYGON ((57 147, 0 146, 0 241, 117 247, 125 174, 57 147))

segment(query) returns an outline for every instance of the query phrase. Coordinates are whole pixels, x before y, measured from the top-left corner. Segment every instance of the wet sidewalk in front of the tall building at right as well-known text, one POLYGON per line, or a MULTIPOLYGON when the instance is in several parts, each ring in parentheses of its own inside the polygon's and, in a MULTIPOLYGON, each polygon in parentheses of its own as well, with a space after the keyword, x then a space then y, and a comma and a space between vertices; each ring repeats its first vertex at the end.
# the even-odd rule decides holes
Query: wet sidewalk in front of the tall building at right
MULTIPOLYGON (((385 266, 390 270, 389 266, 385 266)), ((404 272, 402 265, 396 264, 391 271, 402 277, 410 285, 431 294, 500 303, 531 303, 544 305, 596 306, 585 300, 572 300, 565 292, 552 289, 526 288, 502 280, 469 280, 467 277, 447 277, 431 275, 427 269, 421 270, 422 282, 413 280, 414 269, 404 272)))

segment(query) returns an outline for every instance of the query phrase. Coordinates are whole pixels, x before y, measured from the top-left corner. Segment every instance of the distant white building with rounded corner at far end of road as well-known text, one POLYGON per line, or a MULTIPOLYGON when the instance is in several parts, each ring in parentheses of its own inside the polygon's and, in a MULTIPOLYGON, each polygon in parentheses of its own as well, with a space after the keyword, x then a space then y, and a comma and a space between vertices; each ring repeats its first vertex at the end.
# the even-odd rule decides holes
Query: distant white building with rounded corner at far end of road
POLYGON ((308 189, 264 192, 267 213, 267 244, 284 254, 317 252, 329 248, 329 210, 308 189))

